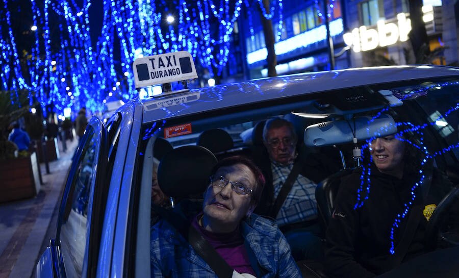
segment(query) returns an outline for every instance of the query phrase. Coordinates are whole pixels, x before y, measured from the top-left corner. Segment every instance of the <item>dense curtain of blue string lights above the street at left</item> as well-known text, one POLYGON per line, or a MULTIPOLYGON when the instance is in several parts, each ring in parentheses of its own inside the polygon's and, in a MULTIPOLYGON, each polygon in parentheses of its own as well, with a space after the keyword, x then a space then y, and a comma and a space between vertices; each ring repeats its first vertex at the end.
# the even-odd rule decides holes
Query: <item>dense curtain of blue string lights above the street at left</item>
POLYGON ((22 49, 16 47, 10 20, 14 5, 5 0, 0 11, 6 18, 0 24, 0 89, 10 90, 13 100, 18 90, 27 89, 31 101, 52 104, 57 113, 83 106, 103 111, 111 96, 124 101, 137 96, 132 90, 135 58, 179 50, 190 52, 213 77, 228 62, 231 35, 244 1, 249 2, 175 0, 169 5, 154 0, 105 0, 95 43, 90 36, 91 0, 30 0, 30 21, 37 30, 30 36, 32 47, 24 59, 18 55, 22 49), (169 15, 177 18, 166 23, 169 15))

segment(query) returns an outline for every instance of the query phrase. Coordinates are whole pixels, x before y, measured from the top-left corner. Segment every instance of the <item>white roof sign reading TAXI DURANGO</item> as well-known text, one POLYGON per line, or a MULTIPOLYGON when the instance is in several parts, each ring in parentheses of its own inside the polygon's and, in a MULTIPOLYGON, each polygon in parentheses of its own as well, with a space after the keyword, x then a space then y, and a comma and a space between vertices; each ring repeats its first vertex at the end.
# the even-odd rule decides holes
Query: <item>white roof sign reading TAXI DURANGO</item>
POLYGON ((136 89, 198 78, 186 51, 137 58, 133 63, 136 89))

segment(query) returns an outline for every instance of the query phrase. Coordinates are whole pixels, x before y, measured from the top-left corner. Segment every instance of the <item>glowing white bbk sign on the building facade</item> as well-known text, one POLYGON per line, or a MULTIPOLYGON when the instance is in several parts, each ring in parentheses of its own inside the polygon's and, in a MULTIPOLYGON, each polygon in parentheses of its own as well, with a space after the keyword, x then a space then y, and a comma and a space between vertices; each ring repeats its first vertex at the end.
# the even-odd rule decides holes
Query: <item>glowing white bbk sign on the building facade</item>
MULTIPOLYGON (((433 20, 432 6, 422 7, 424 22, 433 20)), ((407 14, 399 13, 397 18, 391 20, 379 20, 376 28, 361 26, 355 28, 351 33, 343 35, 344 42, 354 50, 354 52, 368 51, 376 47, 384 47, 407 41, 411 31, 411 20, 407 14)))

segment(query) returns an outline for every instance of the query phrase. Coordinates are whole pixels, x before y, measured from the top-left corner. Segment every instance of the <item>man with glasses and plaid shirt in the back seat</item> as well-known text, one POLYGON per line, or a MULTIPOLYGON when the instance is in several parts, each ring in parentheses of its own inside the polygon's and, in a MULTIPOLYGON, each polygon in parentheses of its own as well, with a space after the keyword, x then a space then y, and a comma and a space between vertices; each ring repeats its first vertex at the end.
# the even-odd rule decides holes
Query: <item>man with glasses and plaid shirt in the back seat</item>
POLYGON ((297 135, 293 124, 282 118, 267 120, 263 141, 269 161, 256 161, 266 177, 266 185, 263 205, 255 212, 277 220, 295 260, 320 260, 323 248, 317 222, 317 185, 307 178, 308 171, 311 171, 309 165, 297 158, 297 135))

